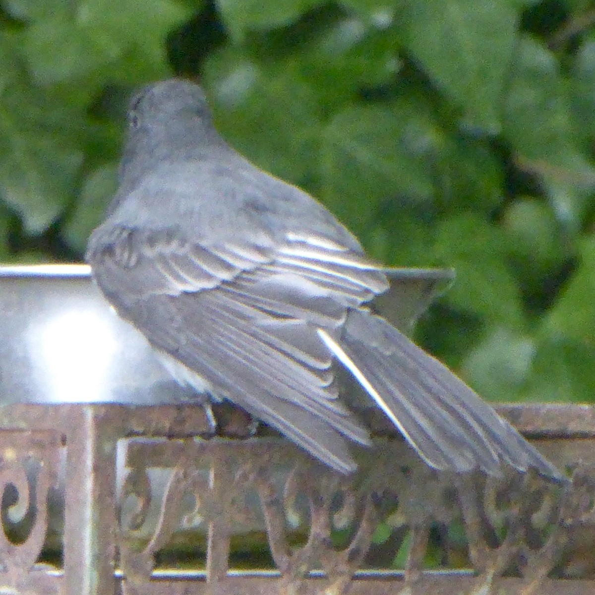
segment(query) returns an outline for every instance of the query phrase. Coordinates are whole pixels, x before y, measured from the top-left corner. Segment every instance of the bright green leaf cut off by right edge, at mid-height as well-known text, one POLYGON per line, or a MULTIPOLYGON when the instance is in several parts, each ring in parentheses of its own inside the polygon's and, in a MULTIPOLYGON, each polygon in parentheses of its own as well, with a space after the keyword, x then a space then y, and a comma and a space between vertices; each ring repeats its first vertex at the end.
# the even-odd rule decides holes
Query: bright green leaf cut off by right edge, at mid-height
POLYGON ((585 238, 580 248, 580 264, 566 281, 562 293, 544 321, 544 333, 569 337, 590 345, 595 343, 595 236, 585 238))

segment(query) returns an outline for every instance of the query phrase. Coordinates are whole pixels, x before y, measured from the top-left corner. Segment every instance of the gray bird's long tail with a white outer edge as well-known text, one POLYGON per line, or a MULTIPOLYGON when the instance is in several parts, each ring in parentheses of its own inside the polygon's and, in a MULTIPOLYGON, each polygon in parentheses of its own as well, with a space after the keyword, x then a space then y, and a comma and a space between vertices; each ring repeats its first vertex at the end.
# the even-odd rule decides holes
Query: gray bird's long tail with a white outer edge
POLYGON ((462 380, 383 318, 353 310, 340 338, 319 333, 428 465, 498 475, 508 464, 565 480, 462 380))

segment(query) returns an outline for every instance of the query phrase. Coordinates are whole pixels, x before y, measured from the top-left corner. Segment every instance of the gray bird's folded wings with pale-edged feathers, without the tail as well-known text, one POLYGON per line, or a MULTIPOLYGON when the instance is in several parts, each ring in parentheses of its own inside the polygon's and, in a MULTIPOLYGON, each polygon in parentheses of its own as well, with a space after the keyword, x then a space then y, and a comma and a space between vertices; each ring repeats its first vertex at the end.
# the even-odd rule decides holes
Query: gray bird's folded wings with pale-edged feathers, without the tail
POLYGON ((113 226, 99 228, 88 258, 157 349, 322 461, 355 469, 343 436, 368 443, 368 432, 337 399, 317 328, 334 333, 349 306, 386 289, 380 268, 307 233, 201 246, 171 228, 113 226))

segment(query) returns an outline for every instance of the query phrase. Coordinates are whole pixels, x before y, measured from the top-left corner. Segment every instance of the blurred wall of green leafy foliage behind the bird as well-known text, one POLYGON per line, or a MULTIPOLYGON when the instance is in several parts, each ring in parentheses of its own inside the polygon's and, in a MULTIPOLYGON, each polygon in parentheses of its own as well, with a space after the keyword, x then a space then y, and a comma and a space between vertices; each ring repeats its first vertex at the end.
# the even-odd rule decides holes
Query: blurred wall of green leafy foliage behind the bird
POLYGON ((594 399, 595 4, 0 0, 0 261, 83 258, 174 75, 374 258, 456 269, 416 338, 483 396, 594 399))

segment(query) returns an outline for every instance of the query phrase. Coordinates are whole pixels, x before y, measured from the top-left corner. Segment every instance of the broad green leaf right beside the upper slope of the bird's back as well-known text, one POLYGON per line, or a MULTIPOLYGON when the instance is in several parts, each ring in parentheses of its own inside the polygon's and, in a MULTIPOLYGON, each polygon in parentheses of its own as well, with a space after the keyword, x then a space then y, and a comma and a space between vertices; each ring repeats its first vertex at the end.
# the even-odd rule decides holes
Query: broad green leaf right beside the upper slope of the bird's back
POLYGON ((350 107, 322 131, 321 198, 358 228, 377 216, 387 199, 431 203, 431 163, 443 143, 430 115, 409 101, 350 107))

